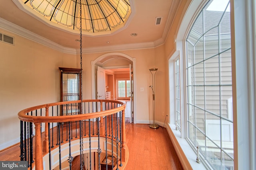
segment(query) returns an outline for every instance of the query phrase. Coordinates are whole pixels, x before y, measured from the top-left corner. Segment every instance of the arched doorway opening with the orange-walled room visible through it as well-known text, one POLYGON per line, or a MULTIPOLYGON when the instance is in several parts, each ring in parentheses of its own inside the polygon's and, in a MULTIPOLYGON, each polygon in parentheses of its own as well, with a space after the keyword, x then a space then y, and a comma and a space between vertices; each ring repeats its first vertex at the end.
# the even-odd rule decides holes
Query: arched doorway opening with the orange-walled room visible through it
MULTIPOLYGON (((136 60, 123 53, 108 53, 98 57, 92 61, 92 98, 96 99, 98 96, 97 85, 97 68, 105 69, 105 82, 102 85, 106 95, 110 94, 110 100, 120 100, 126 103, 126 117, 130 118, 131 123, 136 123, 136 74, 135 65, 136 60), (117 79, 130 79, 132 78, 132 88, 130 99, 118 99, 117 79), (129 108, 128 108, 129 107, 129 108)), ((102 96, 102 95, 100 95, 102 96)), ((129 96, 129 95, 128 95, 129 96)))

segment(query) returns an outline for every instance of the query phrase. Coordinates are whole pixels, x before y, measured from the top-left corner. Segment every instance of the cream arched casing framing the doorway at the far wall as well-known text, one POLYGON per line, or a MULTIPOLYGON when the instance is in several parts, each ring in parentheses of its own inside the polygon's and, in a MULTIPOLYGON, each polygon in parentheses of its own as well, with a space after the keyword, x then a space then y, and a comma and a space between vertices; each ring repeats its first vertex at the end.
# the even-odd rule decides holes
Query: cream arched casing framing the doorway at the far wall
MULTIPOLYGON (((126 58, 130 61, 132 61, 133 65, 133 86, 134 86, 134 123, 136 124, 137 118, 137 98, 136 98, 136 58, 132 58, 129 55, 126 55, 124 53, 106 53, 104 55, 101 55, 94 61, 91 61, 91 69, 92 69, 92 99, 97 99, 97 86, 96 86, 96 71, 97 66, 101 66, 100 61, 104 58, 106 58, 106 61, 111 60, 108 59, 110 56, 122 56, 123 58, 126 58)), ((113 66, 113 68, 120 68, 120 66, 113 66)))

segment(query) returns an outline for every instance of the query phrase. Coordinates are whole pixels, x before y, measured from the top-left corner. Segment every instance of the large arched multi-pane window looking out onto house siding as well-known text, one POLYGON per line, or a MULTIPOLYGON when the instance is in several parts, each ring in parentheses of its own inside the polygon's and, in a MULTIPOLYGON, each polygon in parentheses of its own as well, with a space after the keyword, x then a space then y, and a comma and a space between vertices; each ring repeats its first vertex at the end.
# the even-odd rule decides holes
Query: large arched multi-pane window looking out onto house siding
POLYGON ((229 0, 212 0, 186 39, 188 138, 206 164, 234 167, 229 0), (231 106, 231 107, 230 107, 231 106))

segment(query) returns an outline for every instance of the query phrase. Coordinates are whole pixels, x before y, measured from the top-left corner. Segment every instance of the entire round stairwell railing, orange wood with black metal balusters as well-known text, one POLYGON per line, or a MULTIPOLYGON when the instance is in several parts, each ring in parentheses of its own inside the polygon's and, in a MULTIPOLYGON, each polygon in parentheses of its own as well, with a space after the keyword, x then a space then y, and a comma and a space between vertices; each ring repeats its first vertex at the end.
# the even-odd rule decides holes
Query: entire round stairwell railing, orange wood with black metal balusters
POLYGON ((80 166, 83 169, 86 150, 90 156, 90 161, 88 161, 90 167, 95 166, 95 169, 100 169, 101 163, 108 166, 110 165, 108 158, 110 158, 112 169, 119 169, 118 167, 127 161, 125 107, 124 103, 115 100, 83 100, 82 103, 77 100, 24 109, 18 113, 21 120, 20 158, 28 161, 31 169, 34 168, 34 163, 36 170, 52 169, 54 168, 52 166, 56 167, 52 161, 56 159, 56 156, 54 157, 51 153, 54 149, 59 149, 59 169, 62 169, 65 156, 68 156, 66 161, 71 169, 72 160, 76 155, 80 155, 80 166), (94 139, 94 142, 91 139, 94 139), (96 145, 95 139, 98 139, 97 149, 92 146, 96 145), (80 143, 80 154, 72 149, 75 141, 80 143), (89 145, 85 145, 84 141, 89 145), (68 149, 61 148, 64 144, 69 145, 68 149), (110 147, 112 150, 109 149, 110 147), (101 158, 102 150, 104 151, 103 158, 101 158), (96 156, 91 158, 92 152, 98 153, 98 159, 96 156), (47 163, 43 163, 47 160, 45 156, 48 156, 49 162, 47 163), (92 165, 92 159, 98 164, 92 165), (44 167, 44 164, 49 167, 44 167))

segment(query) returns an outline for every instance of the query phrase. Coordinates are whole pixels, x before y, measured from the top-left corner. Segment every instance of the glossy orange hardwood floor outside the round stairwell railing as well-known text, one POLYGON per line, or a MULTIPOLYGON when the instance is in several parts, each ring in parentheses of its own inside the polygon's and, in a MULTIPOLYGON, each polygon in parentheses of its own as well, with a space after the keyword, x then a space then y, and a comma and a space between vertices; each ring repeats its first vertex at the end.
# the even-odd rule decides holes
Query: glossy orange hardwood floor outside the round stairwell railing
MULTIPOLYGON (((182 170, 165 128, 151 129, 146 124, 126 120, 126 145, 129 159, 125 170, 182 170)), ((20 160, 20 147, 0 151, 0 160, 20 160)))

